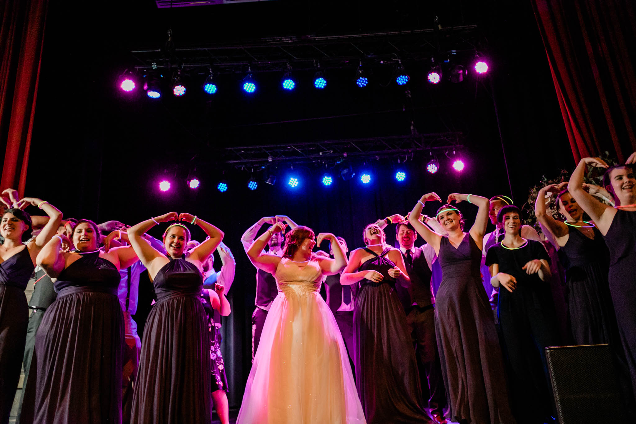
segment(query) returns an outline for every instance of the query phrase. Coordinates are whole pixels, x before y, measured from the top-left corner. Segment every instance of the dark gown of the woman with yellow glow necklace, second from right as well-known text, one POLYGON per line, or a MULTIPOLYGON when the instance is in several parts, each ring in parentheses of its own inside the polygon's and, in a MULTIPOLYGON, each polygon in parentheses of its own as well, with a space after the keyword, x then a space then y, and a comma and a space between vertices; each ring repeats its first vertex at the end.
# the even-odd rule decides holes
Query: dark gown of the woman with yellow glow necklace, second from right
POLYGON ((576 345, 618 342, 609 293, 609 250, 594 228, 594 239, 570 228, 567 243, 558 250, 565 268, 568 324, 576 345))

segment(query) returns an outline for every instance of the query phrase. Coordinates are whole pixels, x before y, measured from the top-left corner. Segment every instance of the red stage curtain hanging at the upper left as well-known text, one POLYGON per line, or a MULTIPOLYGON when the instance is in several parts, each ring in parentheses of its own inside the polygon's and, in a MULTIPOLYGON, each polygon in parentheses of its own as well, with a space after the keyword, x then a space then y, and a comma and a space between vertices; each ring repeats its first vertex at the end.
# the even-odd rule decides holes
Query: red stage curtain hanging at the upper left
POLYGON ((0 188, 24 195, 48 0, 0 0, 0 188))

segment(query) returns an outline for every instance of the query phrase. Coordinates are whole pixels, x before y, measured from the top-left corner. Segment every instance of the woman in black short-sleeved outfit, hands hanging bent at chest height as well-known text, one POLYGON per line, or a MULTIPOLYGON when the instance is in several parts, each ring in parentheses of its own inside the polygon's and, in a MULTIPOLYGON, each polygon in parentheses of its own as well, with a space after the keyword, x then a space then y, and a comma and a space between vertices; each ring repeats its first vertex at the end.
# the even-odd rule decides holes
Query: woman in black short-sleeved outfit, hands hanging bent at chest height
POLYGON ((550 422, 553 402, 544 350, 558 346, 550 264, 543 244, 520 235, 520 210, 504 206, 497 214, 504 240, 488 249, 490 284, 499 291, 499 327, 509 364, 513 412, 518 423, 550 422), (548 420, 548 421, 546 421, 548 420))

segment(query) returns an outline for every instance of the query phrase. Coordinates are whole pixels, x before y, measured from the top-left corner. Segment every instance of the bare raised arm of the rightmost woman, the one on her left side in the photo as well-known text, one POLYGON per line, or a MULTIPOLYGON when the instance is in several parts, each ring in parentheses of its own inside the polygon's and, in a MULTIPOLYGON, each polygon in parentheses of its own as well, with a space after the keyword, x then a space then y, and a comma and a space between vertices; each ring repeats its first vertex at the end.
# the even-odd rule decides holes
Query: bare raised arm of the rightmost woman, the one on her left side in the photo
POLYGON ((607 163, 600 158, 581 159, 581 161, 579 161, 579 165, 577 165, 576 169, 574 169, 574 172, 572 172, 572 175, 570 176, 570 182, 567 184, 567 191, 570 192, 570 195, 572 195, 574 200, 576 200, 576 203, 579 203, 583 210, 590 215, 590 218, 594 221, 598 231, 600 231, 602 235, 605 235, 607 234, 607 230, 609 230, 609 226, 612 224, 614 215, 616 215, 616 209, 609 205, 605 205, 605 203, 598 202, 594 196, 590 195, 590 193, 583 189, 583 176, 588 165, 599 168, 607 168, 607 163))

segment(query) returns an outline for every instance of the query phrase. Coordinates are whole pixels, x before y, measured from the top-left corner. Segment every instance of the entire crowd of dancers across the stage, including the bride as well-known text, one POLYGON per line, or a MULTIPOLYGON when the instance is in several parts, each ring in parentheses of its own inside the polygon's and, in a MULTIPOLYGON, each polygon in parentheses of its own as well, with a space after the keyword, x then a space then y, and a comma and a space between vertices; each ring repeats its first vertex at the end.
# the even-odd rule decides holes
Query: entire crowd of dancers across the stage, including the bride
MULTIPOLYGON (((636 153, 616 167, 584 158, 569 182, 541 189, 543 238, 506 196, 452 193, 427 217, 426 202, 443 203, 428 193, 406 216, 365 226, 352 252, 286 215, 259 219, 241 238, 257 271, 237 423, 549 423, 544 348, 566 343, 611 346, 634 418, 633 163, 636 153), (607 168, 604 188, 584 184, 588 167, 607 168), (555 196, 561 218, 546 208, 555 196), (470 228, 463 202, 477 208, 470 228), (559 266, 565 336, 551 291, 559 266)), ((212 404, 228 423, 219 326, 235 260, 223 231, 188 213, 97 225, 12 189, 1 200, 0 424, 21 367, 23 424, 210 423, 212 404), (163 240, 146 235, 164 223, 163 240), (188 226, 207 238, 191 240, 188 226), (132 315, 144 272, 156 302, 141 343, 132 315)))

